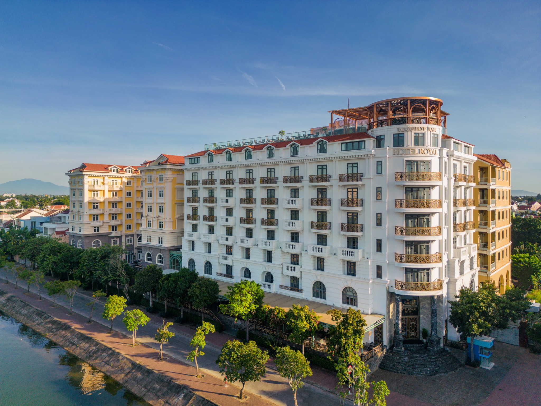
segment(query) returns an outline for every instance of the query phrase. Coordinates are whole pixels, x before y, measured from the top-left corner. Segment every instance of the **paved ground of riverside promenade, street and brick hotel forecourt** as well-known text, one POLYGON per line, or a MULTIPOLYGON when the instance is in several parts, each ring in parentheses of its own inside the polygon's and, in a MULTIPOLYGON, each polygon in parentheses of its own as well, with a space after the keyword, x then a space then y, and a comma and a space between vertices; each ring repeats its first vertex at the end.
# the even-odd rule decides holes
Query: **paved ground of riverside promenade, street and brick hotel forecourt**
MULTIPOLYGON (((5 272, 0 271, 0 277, 5 281, 5 272)), ((12 279, 12 277, 8 277, 12 279)), ((23 281, 24 284, 24 281, 23 281)), ((20 284, 19 284, 20 285, 20 284)), ((151 322, 137 331, 137 341, 143 345, 131 348, 131 333, 126 330, 122 323, 122 316, 115 319, 113 329, 115 333, 108 335, 110 323, 101 318, 103 311, 102 302, 96 304, 94 320, 92 324, 86 324, 90 313, 89 291, 77 293, 74 299, 75 314, 67 313, 69 302, 65 297, 57 299, 57 303, 65 307, 51 307, 49 300, 37 300, 37 295, 25 294, 24 286, 15 290, 12 284, 5 285, 0 281, 0 289, 25 300, 39 309, 48 312, 53 317, 70 324, 78 331, 100 340, 106 345, 115 348, 136 361, 148 366, 148 368, 160 371, 174 378, 176 381, 188 385, 197 394, 208 398, 218 404, 238 404, 235 396, 239 394, 239 386, 228 384, 224 387, 223 377, 220 376, 215 359, 220 353, 221 346, 234 337, 226 333, 214 333, 207 336, 207 346, 204 349, 206 355, 199 358, 200 369, 205 375, 197 379, 195 375, 195 363, 186 360, 190 351, 189 342, 194 330, 187 326, 174 324, 171 331, 176 333, 169 344, 164 345, 164 353, 167 361, 156 361, 159 346, 152 339, 162 319, 157 315, 148 315, 151 322)), ((37 292, 35 286, 31 292, 37 292)), ((46 292, 42 297, 49 299, 46 292)), ((103 298, 102 298, 103 299, 103 298)), ((130 306, 135 309, 141 306, 130 306)), ((171 320, 173 321, 173 320, 171 320)), ((457 357, 464 357, 464 353, 457 351, 457 357)), ((527 352, 523 348, 503 343, 496 343, 494 351, 496 365, 490 371, 482 368, 473 369, 463 367, 456 372, 443 376, 423 377, 394 374, 385 370, 377 370, 371 379, 376 381, 384 379, 387 382, 391 394, 387 398, 388 406, 439 406, 439 405, 479 405, 484 406, 530 406, 541 404, 541 357, 527 352)), ((293 396, 287 381, 281 378, 274 370, 274 363, 267 364, 267 374, 261 382, 248 382, 246 391, 248 400, 245 404, 258 405, 293 405, 293 396)), ((337 382, 335 374, 327 370, 313 366, 314 375, 309 378, 312 384, 306 384, 298 392, 299 406, 313 406, 314 404, 339 405, 338 396, 334 395, 337 382), (326 389, 326 390, 322 390, 326 389)), ((347 402, 346 404, 351 404, 347 402)))

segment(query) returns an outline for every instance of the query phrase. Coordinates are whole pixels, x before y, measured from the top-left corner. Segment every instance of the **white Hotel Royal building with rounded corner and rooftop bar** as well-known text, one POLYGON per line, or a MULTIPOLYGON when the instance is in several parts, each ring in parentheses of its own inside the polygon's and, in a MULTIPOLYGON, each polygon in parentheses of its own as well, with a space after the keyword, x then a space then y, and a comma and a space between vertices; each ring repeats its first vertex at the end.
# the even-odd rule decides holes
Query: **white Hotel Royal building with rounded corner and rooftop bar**
POLYGON ((476 157, 445 135, 441 104, 334 110, 328 127, 187 155, 184 264, 222 287, 255 280, 282 307, 360 309, 368 343, 400 348, 423 328, 433 346, 457 339, 447 301, 478 267, 474 181, 453 173, 476 157))

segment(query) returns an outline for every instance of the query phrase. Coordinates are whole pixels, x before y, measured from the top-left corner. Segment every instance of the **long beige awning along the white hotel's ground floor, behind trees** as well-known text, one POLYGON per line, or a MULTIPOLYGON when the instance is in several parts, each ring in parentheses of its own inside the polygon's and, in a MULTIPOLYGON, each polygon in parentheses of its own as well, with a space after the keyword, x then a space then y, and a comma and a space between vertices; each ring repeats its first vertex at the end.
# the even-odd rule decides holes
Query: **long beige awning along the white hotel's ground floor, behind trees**
MULTIPOLYGON (((220 294, 219 296, 223 299, 225 297, 223 294, 227 293, 227 287, 233 286, 232 283, 223 282, 221 280, 216 280, 218 285, 220 286, 220 294)), ((326 304, 318 303, 318 302, 312 302, 311 300, 305 300, 305 299, 298 299, 290 296, 285 296, 280 293, 269 293, 265 292, 265 298, 263 298, 263 303, 271 306, 271 307, 282 307, 286 311, 289 310, 289 308, 293 307, 294 304, 299 306, 308 306, 309 309, 315 311, 315 313, 320 316, 321 318, 319 321, 321 323, 325 323, 329 326, 333 326, 334 322, 331 320, 331 316, 327 315, 327 311, 331 309, 337 309, 337 307, 329 306, 326 304)), ((344 309, 338 309, 341 312, 344 312, 344 309)), ((366 320, 366 328, 365 330, 372 330, 375 326, 381 324, 385 320, 385 316, 377 315, 375 313, 372 313, 371 315, 362 315, 362 318, 366 320)))

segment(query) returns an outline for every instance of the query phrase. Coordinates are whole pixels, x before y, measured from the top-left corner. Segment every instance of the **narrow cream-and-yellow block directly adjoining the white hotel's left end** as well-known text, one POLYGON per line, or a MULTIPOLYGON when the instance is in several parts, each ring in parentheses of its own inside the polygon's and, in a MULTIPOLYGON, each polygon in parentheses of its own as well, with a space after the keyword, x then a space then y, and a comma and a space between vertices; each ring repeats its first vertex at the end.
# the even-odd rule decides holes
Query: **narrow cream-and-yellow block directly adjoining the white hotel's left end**
POLYGON ((162 154, 142 165, 137 259, 142 266, 155 264, 166 273, 178 271, 184 234, 184 157, 162 154))

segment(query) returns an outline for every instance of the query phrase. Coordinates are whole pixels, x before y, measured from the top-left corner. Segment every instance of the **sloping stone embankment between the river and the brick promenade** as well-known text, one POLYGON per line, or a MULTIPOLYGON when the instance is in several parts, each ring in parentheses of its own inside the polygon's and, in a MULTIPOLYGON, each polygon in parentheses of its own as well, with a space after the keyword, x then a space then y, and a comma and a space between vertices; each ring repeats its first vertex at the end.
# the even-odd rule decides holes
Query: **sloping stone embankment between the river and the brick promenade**
POLYGON ((0 310, 47 335, 49 339, 116 379, 152 405, 216 406, 215 403, 194 394, 186 385, 176 383, 169 377, 138 364, 3 290, 0 290, 0 310))

